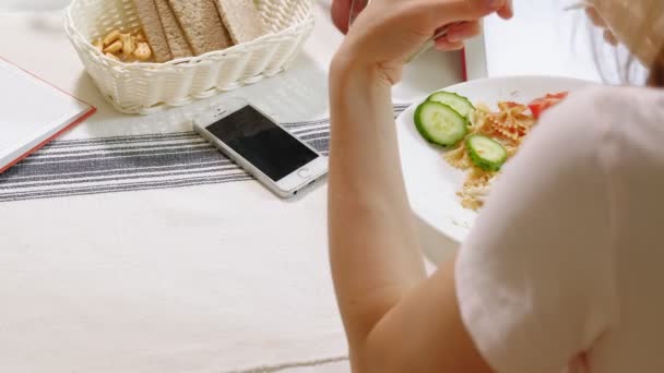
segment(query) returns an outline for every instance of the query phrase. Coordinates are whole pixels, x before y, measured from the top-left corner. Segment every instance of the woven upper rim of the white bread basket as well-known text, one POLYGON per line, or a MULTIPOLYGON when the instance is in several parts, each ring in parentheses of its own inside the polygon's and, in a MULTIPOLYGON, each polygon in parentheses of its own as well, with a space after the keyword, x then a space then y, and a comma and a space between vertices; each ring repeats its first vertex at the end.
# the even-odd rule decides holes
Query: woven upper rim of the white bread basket
POLYGON ((99 52, 99 50, 97 50, 92 45, 92 41, 87 40, 87 38, 85 38, 81 34, 81 32, 78 29, 71 12, 72 12, 72 9, 76 5, 76 3, 79 1, 81 1, 81 0, 72 0, 64 10, 64 29, 66 29, 68 36, 71 39, 76 39, 79 41, 79 44, 82 44, 82 46, 85 47, 85 49, 87 49, 88 52, 96 53, 98 57, 102 57, 103 59, 111 61, 114 64, 121 67, 122 69, 129 69, 129 70, 133 70, 133 69, 142 70, 142 69, 146 69, 146 68, 150 70, 154 70, 154 69, 158 69, 158 68, 170 68, 170 67, 186 68, 188 65, 198 65, 200 63, 204 63, 205 61, 210 61, 211 59, 214 59, 214 58, 228 58, 228 56, 236 55, 236 53, 242 55, 242 53, 245 53, 242 51, 242 49, 252 49, 252 48, 259 47, 261 45, 277 43, 278 38, 281 38, 285 35, 289 35, 289 34, 298 34, 299 28, 305 28, 305 27, 309 26, 310 24, 315 23, 315 16, 313 16, 312 9, 309 8, 306 19, 304 19, 303 21, 297 22, 297 23, 284 28, 284 29, 280 31, 278 33, 265 34, 251 41, 237 44, 237 45, 230 46, 226 49, 213 50, 213 51, 209 51, 206 53, 200 55, 200 56, 182 57, 182 58, 173 59, 173 60, 166 61, 166 62, 122 62, 122 61, 112 60, 112 59, 106 57, 104 53, 99 52))

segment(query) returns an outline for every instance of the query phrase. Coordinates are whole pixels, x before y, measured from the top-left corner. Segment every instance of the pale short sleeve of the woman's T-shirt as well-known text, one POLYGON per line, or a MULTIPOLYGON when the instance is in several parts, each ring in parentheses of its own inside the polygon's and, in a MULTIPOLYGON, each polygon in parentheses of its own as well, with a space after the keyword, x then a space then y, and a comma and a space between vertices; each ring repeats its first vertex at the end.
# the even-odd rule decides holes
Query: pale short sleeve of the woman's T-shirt
POLYGON ((544 116, 460 251, 462 318, 498 372, 559 373, 615 317, 608 170, 598 159, 606 130, 595 107, 572 96, 544 116))

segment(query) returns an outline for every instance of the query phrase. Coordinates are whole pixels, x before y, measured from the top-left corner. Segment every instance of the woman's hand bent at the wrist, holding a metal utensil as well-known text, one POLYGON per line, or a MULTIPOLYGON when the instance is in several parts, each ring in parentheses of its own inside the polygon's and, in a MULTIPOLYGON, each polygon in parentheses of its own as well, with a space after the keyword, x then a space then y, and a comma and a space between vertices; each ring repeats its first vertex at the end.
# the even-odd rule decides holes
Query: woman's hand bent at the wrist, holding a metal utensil
MULTIPOLYGON (((347 13, 348 8, 349 0, 333 4, 333 17, 342 29, 344 16, 339 14, 347 13)), ((452 25, 437 40, 439 49, 462 48, 465 38, 479 33, 478 20, 493 12, 510 17, 511 0, 374 0, 348 31, 333 68, 376 70, 394 84, 407 57, 437 29, 452 25)))

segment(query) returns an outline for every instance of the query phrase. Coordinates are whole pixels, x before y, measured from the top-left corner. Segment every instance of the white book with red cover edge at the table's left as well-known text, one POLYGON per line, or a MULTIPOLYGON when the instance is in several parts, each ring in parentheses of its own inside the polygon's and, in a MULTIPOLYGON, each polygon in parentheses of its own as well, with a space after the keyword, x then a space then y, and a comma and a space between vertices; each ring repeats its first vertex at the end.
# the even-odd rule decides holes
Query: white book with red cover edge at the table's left
POLYGON ((94 111, 0 58, 0 172, 94 111))

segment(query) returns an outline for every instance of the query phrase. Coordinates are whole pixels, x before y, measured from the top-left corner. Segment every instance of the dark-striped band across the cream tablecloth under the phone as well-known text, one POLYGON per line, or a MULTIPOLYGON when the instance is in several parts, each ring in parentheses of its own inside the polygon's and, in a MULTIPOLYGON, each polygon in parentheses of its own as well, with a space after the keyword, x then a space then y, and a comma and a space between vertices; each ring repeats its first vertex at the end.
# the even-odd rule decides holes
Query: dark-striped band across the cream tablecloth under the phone
MULTIPOLYGON (((395 105, 395 115, 407 107, 395 105)), ((329 119, 284 127, 328 154, 329 119)), ((58 140, 0 175, 0 202, 251 179, 195 132, 58 140)))

